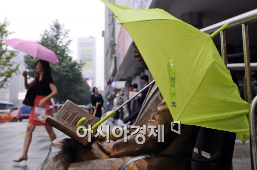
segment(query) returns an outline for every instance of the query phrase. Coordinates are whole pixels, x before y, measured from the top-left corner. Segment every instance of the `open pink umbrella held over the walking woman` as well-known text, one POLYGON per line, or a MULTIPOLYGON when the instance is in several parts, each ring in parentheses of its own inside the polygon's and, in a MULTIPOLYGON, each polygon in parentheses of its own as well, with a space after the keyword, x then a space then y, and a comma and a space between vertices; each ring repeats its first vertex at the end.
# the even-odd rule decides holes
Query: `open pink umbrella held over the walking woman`
POLYGON ((59 60, 53 51, 49 50, 48 48, 42 46, 37 42, 25 41, 14 38, 6 41, 5 44, 10 45, 11 47, 25 52, 33 57, 40 58, 54 64, 59 63, 59 60))

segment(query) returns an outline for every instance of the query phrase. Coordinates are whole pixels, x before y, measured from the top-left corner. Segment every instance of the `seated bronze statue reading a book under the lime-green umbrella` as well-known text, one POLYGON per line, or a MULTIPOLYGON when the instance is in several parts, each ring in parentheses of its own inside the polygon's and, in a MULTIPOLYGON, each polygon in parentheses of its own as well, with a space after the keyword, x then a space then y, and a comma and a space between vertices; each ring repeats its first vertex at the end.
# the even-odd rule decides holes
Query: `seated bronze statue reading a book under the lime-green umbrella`
MULTIPOLYGON (((134 44, 135 45, 135 44, 134 44)), ((135 45, 134 57, 147 69, 135 45)), ((123 138, 110 136, 110 142, 102 136, 83 146, 70 138, 55 139, 49 153, 39 169, 117 169, 125 161, 145 153, 172 154, 191 157, 199 127, 181 125, 181 134, 170 130, 172 117, 156 84, 150 87, 147 97, 134 125, 164 125, 164 142, 158 142, 153 135, 146 137, 144 144, 136 143, 136 135, 129 134, 127 142, 123 138)), ((128 128, 133 132, 132 128, 128 128)), ((135 130, 135 129, 134 129, 135 130)), ((147 129, 147 134, 149 134, 147 129)), ((145 158, 126 169, 190 169, 190 162, 167 158, 145 158)))

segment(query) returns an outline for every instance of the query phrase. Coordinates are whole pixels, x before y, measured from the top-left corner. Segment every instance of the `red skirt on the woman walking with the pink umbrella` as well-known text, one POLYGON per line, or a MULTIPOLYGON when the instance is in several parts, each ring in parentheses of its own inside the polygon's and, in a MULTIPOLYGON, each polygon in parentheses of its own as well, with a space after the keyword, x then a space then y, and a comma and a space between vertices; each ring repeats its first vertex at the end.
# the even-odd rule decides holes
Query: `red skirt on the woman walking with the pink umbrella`
MULTIPOLYGON (((51 126, 49 125, 48 123, 46 122, 40 122, 40 121, 37 121, 37 120, 34 120, 34 111, 35 111, 35 106, 38 106, 39 105, 39 102, 41 99, 43 99, 45 96, 39 96, 37 95, 35 97, 35 100, 34 100, 34 105, 33 105, 33 108, 30 112, 30 115, 29 115, 29 123, 33 124, 33 125, 38 125, 38 126, 51 126)), ((50 100, 47 100, 45 101, 45 105, 52 105, 52 102, 50 100)))

